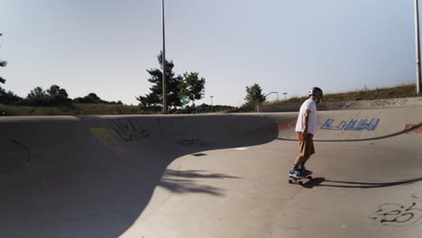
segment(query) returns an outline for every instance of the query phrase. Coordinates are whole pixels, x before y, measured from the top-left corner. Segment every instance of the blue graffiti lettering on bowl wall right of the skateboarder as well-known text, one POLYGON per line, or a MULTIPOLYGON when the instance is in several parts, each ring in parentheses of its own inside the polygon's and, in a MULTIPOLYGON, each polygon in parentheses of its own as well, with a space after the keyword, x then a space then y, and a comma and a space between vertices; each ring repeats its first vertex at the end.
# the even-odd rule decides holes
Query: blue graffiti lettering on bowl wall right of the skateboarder
POLYGON ((342 121, 340 124, 333 124, 335 122, 335 119, 328 118, 326 120, 326 123, 323 124, 321 129, 325 130, 345 130, 345 131, 362 131, 362 130, 368 130, 368 131, 375 131, 377 129, 378 124, 380 124, 380 119, 373 118, 371 119, 371 122, 368 123, 367 119, 352 119, 350 121, 342 121))

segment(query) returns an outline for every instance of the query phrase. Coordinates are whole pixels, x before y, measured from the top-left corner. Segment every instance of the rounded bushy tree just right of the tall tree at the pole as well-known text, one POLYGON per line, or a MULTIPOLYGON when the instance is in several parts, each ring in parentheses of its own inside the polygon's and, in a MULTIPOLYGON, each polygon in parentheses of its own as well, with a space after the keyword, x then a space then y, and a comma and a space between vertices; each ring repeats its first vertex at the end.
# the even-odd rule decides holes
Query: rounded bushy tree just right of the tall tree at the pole
MULTIPOLYGON (((184 97, 188 98, 186 101, 199 100, 205 93, 205 78, 199 78, 198 72, 186 72, 183 74, 183 80, 179 84, 179 98, 182 100, 184 97)), ((187 104, 188 102, 184 103, 187 104)))

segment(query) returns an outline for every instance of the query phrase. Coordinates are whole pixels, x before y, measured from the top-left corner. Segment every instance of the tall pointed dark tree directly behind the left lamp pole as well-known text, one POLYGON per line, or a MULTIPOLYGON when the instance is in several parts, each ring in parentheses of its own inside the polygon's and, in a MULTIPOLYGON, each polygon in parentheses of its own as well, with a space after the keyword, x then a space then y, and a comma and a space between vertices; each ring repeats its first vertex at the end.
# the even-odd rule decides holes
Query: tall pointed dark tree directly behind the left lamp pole
MULTIPOLYGON (((145 96, 138 96, 136 99, 140 101, 140 105, 144 108, 162 108, 162 51, 157 57, 160 63, 160 69, 147 69, 147 72, 151 75, 148 81, 152 83, 150 87, 151 93, 145 96)), ((167 61, 166 64, 166 92, 167 92, 167 105, 175 109, 181 106, 179 98, 179 84, 183 78, 181 76, 175 76, 173 73, 174 64, 173 61, 167 61)))

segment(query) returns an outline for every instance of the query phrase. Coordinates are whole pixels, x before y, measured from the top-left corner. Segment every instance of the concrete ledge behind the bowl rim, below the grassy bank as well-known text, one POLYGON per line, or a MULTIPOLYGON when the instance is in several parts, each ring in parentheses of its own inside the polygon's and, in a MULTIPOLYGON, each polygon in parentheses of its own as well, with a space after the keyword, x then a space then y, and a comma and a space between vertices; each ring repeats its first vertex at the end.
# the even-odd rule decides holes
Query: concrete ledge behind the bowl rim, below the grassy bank
MULTIPOLYGON (((378 99, 367 101, 347 101, 347 102, 327 102, 318 105, 319 111, 329 110, 347 110, 347 109, 379 109, 379 108, 395 108, 403 106, 422 105, 422 96, 403 97, 391 99, 378 99)), ((292 105, 259 105, 260 113, 271 112, 297 112, 300 104, 292 105)))

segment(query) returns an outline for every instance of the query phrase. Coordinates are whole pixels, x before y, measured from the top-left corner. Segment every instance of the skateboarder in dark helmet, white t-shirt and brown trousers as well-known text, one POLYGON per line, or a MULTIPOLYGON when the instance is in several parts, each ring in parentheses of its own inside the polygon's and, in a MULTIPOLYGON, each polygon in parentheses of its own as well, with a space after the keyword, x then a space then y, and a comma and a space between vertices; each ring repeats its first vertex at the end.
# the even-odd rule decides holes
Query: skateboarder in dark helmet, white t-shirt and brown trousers
POLYGON ((294 178, 304 178, 310 174, 305 168, 305 163, 310 156, 315 153, 314 134, 317 127, 318 104, 323 97, 323 91, 319 87, 312 87, 309 90, 309 98, 300 106, 298 123, 296 124, 296 136, 298 137, 300 152, 295 160, 294 166, 289 170, 289 176, 294 178))

